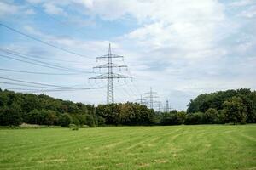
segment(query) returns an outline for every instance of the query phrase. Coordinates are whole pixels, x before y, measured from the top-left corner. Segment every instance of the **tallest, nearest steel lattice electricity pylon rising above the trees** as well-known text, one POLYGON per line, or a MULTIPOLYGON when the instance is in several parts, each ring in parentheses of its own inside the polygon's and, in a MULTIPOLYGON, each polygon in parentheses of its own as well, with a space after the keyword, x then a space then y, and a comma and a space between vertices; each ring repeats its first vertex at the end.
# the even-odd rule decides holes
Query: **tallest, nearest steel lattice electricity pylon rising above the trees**
POLYGON ((111 53, 111 45, 109 43, 109 47, 108 47, 108 54, 106 55, 102 55, 101 57, 97 57, 96 60, 98 61, 98 59, 108 59, 108 63, 103 64, 103 65, 97 65, 95 67, 93 67, 93 69, 108 69, 106 73, 103 73, 102 75, 96 76, 96 77, 90 77, 89 79, 107 79, 107 104, 111 104, 114 102, 114 98, 113 98, 113 79, 119 79, 119 78, 131 78, 129 76, 125 76, 125 75, 121 75, 118 73, 114 73, 113 72, 113 68, 117 67, 117 68, 127 68, 127 65, 118 65, 118 64, 114 64, 112 62, 113 59, 118 59, 118 58, 122 58, 124 59, 123 56, 120 55, 116 55, 116 54, 112 54, 111 53))

